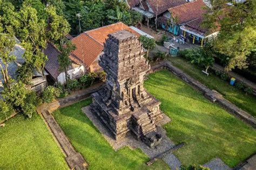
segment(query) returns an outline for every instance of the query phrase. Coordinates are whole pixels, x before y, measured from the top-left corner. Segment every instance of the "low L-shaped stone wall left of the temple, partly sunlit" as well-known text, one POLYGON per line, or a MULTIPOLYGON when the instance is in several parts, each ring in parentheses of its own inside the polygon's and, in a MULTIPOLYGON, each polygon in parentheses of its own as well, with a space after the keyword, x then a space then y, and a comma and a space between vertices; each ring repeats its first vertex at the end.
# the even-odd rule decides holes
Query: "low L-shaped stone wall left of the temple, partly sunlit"
POLYGON ((66 137, 63 130, 60 128, 58 123, 55 121, 55 118, 52 116, 52 112, 56 109, 66 107, 73 103, 85 100, 85 98, 90 97, 92 93, 95 93, 97 90, 103 87, 104 83, 98 83, 94 86, 86 88, 84 90, 79 90, 75 94, 71 94, 65 98, 61 98, 58 101, 42 104, 37 108, 37 112, 42 116, 45 124, 48 126, 49 130, 52 133, 53 138, 56 140, 57 145, 62 150, 65 155, 65 160, 68 163, 71 169, 86 169, 88 164, 83 158, 82 154, 76 152, 75 148, 70 143, 68 137, 66 137))

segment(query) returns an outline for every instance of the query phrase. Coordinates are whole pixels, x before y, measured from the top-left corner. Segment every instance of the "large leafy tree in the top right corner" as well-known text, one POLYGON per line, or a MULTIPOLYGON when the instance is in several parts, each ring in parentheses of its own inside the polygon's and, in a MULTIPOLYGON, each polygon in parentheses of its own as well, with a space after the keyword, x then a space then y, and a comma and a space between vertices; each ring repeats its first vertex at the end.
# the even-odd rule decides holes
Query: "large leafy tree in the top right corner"
POLYGON ((213 48, 227 56, 226 70, 246 68, 247 57, 256 49, 256 1, 226 5, 228 0, 214 0, 202 26, 214 31, 220 26, 213 48))

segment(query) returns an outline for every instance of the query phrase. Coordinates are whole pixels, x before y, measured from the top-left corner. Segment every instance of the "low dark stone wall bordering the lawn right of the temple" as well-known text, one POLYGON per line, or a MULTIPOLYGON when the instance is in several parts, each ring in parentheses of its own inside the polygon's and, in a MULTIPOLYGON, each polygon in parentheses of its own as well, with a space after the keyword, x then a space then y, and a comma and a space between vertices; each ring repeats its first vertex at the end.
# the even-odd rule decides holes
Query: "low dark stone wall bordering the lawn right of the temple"
POLYGON ((234 105, 230 101, 226 100, 217 91, 209 89, 208 87, 204 86, 204 84, 193 79, 191 76, 187 75, 179 68, 174 67, 170 61, 162 61, 157 65, 152 66, 149 73, 156 72, 157 70, 161 70, 161 69, 169 70, 170 72, 178 76, 180 79, 188 83, 193 88, 196 88, 197 90, 201 91, 208 100, 210 100, 211 102, 218 103, 221 107, 226 109, 232 115, 237 116, 242 121, 246 122, 247 124, 251 125, 254 129, 256 129, 256 118, 248 114, 246 111, 238 108, 236 105, 234 105))

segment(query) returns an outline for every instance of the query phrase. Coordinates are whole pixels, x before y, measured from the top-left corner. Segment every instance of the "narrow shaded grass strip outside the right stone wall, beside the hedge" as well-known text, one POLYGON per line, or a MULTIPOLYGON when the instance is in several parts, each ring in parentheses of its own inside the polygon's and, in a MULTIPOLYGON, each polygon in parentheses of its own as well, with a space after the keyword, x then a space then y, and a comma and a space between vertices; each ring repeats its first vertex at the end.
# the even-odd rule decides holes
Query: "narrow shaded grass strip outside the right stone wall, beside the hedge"
POLYGON ((215 74, 206 76, 201 72, 202 68, 190 63, 189 61, 176 57, 169 59, 174 66, 183 70, 188 75, 197 79, 201 83, 205 84, 210 89, 214 89, 221 93, 227 100, 237 105, 239 108, 248 112, 252 116, 256 117, 256 97, 253 95, 246 95, 244 91, 238 90, 228 84, 227 81, 220 79, 215 74))

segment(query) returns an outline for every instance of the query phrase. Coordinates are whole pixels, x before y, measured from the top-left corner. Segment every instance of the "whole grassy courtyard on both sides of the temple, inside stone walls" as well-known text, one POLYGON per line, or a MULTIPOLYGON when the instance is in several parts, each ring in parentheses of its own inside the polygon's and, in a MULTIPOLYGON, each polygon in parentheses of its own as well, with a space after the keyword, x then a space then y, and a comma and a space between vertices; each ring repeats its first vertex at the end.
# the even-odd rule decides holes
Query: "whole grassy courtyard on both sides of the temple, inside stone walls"
MULTIPOLYGON (((235 167, 256 152, 256 132, 167 70, 150 74, 145 88, 162 102, 161 110, 172 121, 164 126, 167 136, 185 146, 174 151, 182 164, 203 165, 220 158, 235 167)), ((123 147, 114 151, 95 128, 82 108, 91 99, 53 112, 76 150, 84 156, 90 169, 144 169, 149 158, 139 149, 123 147)), ((166 169, 163 160, 150 168, 166 169)))

